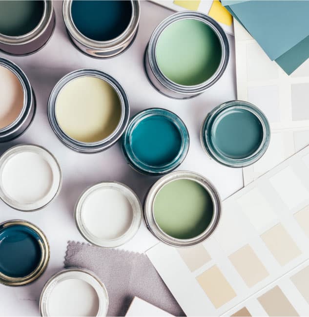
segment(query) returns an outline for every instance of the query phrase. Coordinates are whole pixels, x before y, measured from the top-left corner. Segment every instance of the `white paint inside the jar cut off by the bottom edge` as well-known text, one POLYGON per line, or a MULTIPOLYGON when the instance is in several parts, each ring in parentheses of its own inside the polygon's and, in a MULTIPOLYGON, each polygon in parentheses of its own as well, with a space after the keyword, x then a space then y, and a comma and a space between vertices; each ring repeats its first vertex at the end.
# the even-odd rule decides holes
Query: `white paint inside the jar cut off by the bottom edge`
POLYGON ((65 279, 50 293, 47 309, 49 316, 97 316, 99 297, 88 282, 65 279))

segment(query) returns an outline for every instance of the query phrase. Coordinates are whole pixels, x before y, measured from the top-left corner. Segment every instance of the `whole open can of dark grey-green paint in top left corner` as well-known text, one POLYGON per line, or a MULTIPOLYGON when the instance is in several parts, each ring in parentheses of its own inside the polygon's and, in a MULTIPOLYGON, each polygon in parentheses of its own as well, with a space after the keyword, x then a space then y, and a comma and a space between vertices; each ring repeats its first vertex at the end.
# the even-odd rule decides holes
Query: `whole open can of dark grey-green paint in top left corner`
POLYGON ((5 53, 35 53, 48 42, 54 28, 52 1, 0 1, 0 50, 5 53))

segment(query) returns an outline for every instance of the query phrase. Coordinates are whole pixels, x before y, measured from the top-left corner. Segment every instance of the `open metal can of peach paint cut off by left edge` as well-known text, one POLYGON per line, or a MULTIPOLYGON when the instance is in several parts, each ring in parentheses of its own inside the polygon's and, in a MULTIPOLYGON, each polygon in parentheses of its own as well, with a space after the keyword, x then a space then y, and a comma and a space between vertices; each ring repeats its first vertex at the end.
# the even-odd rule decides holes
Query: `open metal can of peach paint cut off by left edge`
POLYGON ((1 57, 0 96, 0 142, 6 142, 19 137, 30 126, 36 100, 21 68, 1 57))

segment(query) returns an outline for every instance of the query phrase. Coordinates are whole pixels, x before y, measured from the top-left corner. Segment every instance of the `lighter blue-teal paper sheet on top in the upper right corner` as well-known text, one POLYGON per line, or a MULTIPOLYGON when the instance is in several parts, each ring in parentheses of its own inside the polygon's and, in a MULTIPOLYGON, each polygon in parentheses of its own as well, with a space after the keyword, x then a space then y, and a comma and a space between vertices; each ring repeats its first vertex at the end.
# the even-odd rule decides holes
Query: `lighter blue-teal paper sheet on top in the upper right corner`
POLYGON ((309 1, 252 0, 230 9, 271 60, 309 36, 309 1))

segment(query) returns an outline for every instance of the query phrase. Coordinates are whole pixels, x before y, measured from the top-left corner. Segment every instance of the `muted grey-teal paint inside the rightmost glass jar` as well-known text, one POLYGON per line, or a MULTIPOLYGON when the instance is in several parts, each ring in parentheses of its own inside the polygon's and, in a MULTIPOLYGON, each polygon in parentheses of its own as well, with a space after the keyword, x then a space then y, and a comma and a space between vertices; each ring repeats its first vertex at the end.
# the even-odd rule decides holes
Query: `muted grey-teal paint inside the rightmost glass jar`
POLYGON ((260 147, 262 141, 262 124, 257 116, 247 109, 226 109, 213 122, 213 147, 229 158, 247 158, 260 147))

